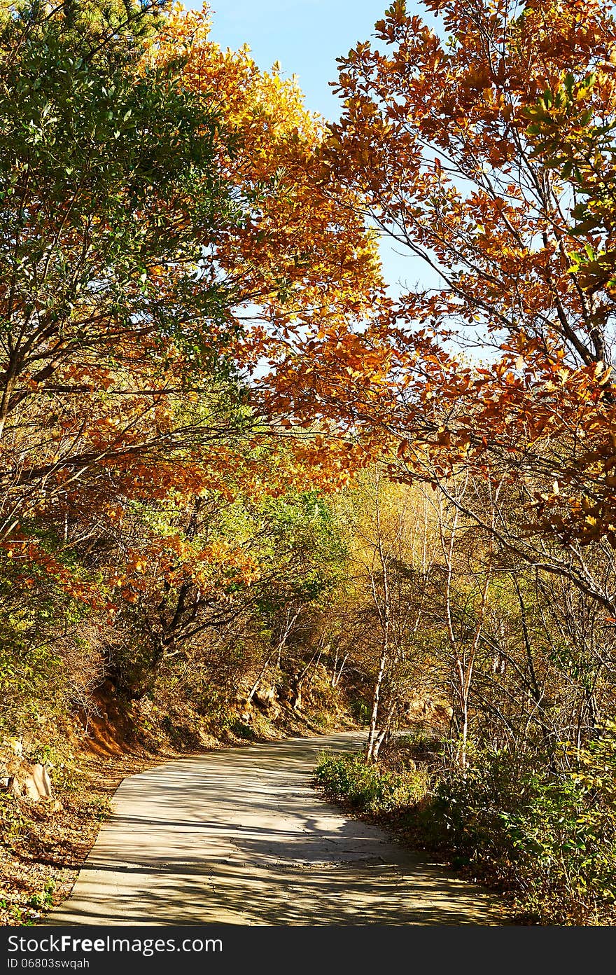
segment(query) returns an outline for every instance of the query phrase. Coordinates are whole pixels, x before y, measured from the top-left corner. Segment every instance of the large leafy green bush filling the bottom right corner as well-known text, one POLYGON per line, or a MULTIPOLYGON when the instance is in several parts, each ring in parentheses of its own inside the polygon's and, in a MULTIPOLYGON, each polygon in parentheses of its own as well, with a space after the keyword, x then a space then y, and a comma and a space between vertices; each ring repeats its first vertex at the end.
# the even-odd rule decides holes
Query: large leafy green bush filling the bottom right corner
POLYGON ((436 790, 431 814, 458 863, 483 865, 542 923, 616 920, 616 725, 559 770, 540 757, 480 753, 436 790))

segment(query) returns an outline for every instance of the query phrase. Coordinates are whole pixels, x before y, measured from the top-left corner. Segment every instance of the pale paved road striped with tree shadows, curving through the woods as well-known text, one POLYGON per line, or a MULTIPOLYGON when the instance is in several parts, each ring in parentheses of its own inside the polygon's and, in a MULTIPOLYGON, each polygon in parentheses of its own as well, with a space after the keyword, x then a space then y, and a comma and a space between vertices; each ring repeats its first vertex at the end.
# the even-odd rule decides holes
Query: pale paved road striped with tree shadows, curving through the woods
POLYGON ((502 924, 479 888, 311 786, 354 733, 212 752, 125 779, 51 924, 502 924))

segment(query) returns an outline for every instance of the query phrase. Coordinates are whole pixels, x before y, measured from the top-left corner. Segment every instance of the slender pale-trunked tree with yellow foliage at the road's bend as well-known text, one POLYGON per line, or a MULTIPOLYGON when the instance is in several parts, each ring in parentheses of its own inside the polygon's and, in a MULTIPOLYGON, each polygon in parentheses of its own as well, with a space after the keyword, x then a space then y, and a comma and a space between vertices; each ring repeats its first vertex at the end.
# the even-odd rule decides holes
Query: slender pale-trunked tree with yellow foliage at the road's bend
POLYGON ((348 533, 345 612, 353 624, 344 645, 369 684, 366 758, 376 761, 409 706, 431 694, 423 638, 438 569, 438 520, 420 490, 391 483, 382 462, 367 468, 338 506, 348 533))

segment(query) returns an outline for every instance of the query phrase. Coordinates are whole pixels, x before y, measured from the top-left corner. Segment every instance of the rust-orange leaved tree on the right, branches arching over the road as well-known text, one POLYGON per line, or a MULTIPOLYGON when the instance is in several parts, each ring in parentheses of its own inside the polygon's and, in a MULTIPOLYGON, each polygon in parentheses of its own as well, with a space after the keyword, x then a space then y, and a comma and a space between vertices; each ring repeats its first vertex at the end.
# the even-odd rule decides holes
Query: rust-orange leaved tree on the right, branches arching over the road
POLYGON ((502 543, 613 611, 584 555, 616 537, 612 300, 580 256, 598 242, 580 223, 579 167, 547 165, 539 122, 543 93, 571 89, 571 65, 576 78, 599 65, 597 90, 580 81, 574 94, 580 111, 595 98, 609 132, 614 23, 576 2, 427 6, 439 32, 395 3, 376 25, 383 46, 340 59, 343 111, 321 153, 324 181, 425 284, 381 296, 342 334, 296 335, 273 399, 344 431, 349 457, 360 443, 396 458, 395 476, 436 483, 467 467, 508 483, 523 514, 502 543))

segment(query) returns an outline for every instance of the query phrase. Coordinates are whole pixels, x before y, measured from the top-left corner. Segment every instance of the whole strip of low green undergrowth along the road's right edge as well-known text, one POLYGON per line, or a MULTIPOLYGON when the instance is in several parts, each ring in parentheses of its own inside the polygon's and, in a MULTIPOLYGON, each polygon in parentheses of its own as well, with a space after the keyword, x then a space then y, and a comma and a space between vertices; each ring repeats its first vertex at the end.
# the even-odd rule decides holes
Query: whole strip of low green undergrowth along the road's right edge
POLYGON ((514 922, 614 924, 612 726, 557 774, 507 750, 478 753, 462 771, 434 729, 427 758, 424 736, 397 738, 377 764, 324 755, 316 781, 329 800, 502 891, 514 922))

